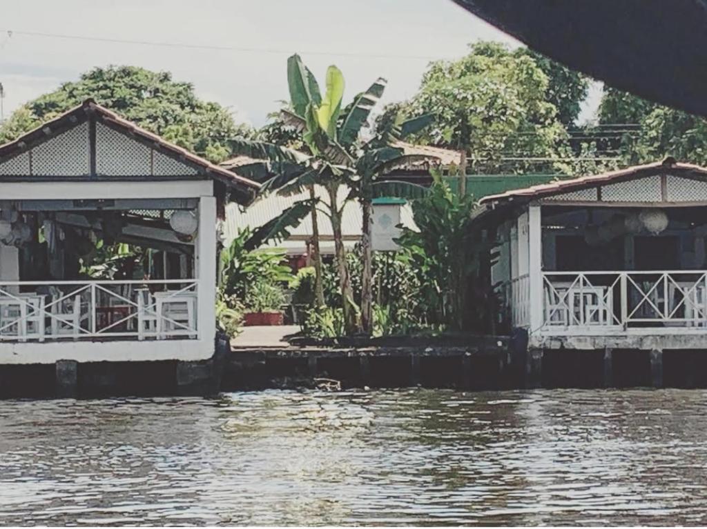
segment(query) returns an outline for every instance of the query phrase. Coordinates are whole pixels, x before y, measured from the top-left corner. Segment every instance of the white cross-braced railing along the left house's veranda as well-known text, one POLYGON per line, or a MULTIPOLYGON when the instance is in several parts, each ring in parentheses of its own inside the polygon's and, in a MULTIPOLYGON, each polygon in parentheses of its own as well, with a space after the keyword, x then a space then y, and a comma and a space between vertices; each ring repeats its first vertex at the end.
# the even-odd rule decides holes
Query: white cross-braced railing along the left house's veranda
POLYGON ((0 341, 197 338, 196 280, 0 283, 0 341))

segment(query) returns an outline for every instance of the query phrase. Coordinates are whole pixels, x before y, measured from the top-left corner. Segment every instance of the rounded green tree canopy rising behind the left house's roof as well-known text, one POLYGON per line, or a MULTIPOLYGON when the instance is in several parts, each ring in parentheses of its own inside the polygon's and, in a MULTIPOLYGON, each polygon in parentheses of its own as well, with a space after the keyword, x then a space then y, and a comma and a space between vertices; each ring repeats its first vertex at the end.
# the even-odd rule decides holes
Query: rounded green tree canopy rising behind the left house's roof
POLYGON ((174 81, 168 72, 109 66, 83 73, 78 81, 17 109, 0 129, 0 141, 21 136, 88 97, 212 162, 230 155, 230 138, 251 133, 249 127, 235 124, 228 109, 200 100, 190 83, 174 81))

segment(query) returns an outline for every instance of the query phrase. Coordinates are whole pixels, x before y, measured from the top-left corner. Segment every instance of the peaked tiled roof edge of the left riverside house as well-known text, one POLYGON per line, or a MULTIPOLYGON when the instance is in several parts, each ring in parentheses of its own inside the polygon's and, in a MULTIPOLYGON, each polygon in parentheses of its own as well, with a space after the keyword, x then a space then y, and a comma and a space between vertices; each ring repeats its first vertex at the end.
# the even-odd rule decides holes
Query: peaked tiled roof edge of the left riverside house
POLYGON ((182 148, 174 143, 166 141, 164 138, 151 133, 146 129, 120 117, 115 112, 98 105, 92 99, 87 99, 81 105, 70 109, 58 117, 46 121, 36 129, 25 133, 23 136, 14 141, 0 145, 0 163, 10 160, 27 150, 30 150, 35 145, 38 145, 48 138, 53 138, 59 133, 68 131, 84 121, 95 119, 109 126, 111 129, 124 133, 129 138, 138 141, 149 148, 156 150, 168 157, 173 158, 185 165, 194 168, 195 172, 205 177, 211 177, 222 184, 225 184, 233 191, 238 201, 247 203, 255 196, 255 191, 260 185, 257 182, 232 172, 225 167, 219 167, 216 164, 205 160, 204 158, 190 153, 189 150, 182 148))

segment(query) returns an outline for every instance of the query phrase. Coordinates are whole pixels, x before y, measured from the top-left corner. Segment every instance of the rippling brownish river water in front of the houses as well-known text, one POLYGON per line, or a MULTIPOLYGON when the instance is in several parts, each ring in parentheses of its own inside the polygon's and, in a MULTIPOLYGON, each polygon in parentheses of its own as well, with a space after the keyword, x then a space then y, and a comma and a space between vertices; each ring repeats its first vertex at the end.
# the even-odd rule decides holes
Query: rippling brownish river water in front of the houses
POLYGON ((0 524, 704 524, 705 391, 0 401, 0 524))

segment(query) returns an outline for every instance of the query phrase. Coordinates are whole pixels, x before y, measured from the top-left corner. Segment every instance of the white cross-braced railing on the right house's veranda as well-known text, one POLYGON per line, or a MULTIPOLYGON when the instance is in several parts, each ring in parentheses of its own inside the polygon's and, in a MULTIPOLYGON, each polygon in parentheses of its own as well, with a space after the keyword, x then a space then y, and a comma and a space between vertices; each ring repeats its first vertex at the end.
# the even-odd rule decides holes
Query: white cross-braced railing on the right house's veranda
POLYGON ((707 271, 544 272, 543 328, 707 328, 707 271))

